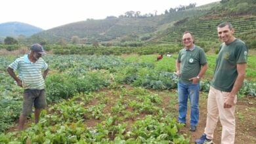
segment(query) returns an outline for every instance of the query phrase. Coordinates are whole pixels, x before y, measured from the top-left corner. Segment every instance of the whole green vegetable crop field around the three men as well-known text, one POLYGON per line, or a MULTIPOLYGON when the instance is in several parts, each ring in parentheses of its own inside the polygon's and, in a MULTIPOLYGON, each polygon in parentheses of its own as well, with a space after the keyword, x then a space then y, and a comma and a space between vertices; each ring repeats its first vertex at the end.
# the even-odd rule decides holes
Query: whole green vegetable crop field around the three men
MULTIPOLYGON (((209 68, 201 82, 202 118, 215 57, 207 55, 209 68)), ((178 79, 173 73, 177 54, 160 61, 155 54, 44 56, 50 68, 45 81, 48 107, 38 124, 32 113, 22 132, 16 131, 16 122, 23 89, 5 70, 16 58, 0 57, 0 143, 192 143, 195 139, 177 122, 178 79)), ((236 111, 238 134, 244 130, 247 135, 238 135, 236 142, 256 142, 255 62, 256 56, 249 55, 236 111)), ((196 136, 205 126, 200 124, 196 136)))

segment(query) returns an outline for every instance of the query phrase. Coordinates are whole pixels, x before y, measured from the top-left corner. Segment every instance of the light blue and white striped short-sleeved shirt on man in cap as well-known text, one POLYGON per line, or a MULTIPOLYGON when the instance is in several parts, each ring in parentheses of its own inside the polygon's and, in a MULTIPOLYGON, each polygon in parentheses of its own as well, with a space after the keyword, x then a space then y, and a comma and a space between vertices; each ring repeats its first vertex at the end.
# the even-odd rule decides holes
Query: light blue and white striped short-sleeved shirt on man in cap
POLYGON ((14 71, 18 70, 18 77, 29 89, 42 90, 45 87, 42 70, 45 71, 48 65, 42 58, 32 63, 28 59, 28 54, 25 54, 12 62, 9 67, 14 71))

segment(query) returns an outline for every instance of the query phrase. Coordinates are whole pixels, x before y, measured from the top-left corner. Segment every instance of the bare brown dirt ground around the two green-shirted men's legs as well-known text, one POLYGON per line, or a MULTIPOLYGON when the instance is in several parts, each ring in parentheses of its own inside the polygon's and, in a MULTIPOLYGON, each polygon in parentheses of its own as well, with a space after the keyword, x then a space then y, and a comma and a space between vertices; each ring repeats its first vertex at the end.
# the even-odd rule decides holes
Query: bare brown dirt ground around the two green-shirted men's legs
MULTIPOLYGON (((207 98, 200 95, 200 120, 198 123, 197 131, 190 132, 190 117, 187 119, 187 124, 182 128, 181 132, 190 136, 190 143, 194 143, 196 139, 202 136, 206 124, 207 117, 207 98)), ((190 110, 188 110, 190 111, 190 110)), ((236 138, 235 143, 238 144, 253 144, 256 143, 256 98, 247 97, 238 99, 236 103, 236 138)), ((187 116, 190 113, 188 112, 187 116)), ((213 142, 221 143, 221 122, 218 121, 217 128, 215 129, 213 142)))

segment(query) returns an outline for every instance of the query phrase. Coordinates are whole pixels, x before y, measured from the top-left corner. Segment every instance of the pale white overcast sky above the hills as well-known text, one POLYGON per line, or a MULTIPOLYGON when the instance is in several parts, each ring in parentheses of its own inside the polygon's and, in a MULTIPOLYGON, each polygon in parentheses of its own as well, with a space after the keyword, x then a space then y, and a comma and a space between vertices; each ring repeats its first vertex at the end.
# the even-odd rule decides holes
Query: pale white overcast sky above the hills
POLYGON ((196 3, 196 7, 220 0, 3 0, 0 24, 23 22, 42 29, 107 16, 118 17, 129 10, 140 14, 164 13, 179 5, 196 3))

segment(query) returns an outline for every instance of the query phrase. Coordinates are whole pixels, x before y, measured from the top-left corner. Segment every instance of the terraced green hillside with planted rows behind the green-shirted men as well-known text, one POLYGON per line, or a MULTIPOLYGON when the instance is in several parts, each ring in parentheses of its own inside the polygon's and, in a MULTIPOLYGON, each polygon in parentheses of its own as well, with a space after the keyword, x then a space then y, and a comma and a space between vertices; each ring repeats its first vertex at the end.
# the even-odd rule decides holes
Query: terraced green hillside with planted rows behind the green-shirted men
POLYGON ((252 42, 256 38, 256 4, 253 0, 222 0, 219 5, 209 5, 211 10, 203 16, 186 17, 175 22, 150 43, 173 43, 181 41, 184 31, 192 31, 196 41, 218 41, 217 25, 230 22, 236 37, 252 42))

